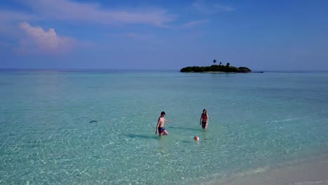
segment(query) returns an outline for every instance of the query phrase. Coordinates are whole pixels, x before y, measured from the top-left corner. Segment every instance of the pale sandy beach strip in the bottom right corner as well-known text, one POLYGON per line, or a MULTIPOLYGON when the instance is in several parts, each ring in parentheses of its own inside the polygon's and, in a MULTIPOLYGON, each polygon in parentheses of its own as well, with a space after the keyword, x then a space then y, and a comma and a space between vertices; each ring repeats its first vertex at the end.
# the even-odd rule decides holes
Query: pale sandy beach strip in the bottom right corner
POLYGON ((212 179, 203 184, 214 185, 327 185, 328 153, 306 158, 299 162, 284 163, 274 168, 259 167, 247 172, 232 174, 224 179, 212 179))

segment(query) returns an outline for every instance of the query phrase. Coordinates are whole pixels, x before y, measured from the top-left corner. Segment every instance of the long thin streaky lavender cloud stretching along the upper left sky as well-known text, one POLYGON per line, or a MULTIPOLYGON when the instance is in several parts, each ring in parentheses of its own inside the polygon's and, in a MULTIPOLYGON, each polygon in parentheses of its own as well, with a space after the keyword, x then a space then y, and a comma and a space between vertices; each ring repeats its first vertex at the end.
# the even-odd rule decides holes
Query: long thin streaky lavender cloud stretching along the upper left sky
POLYGON ((117 11, 104 9, 100 4, 78 3, 69 0, 26 0, 34 12, 57 20, 72 20, 98 24, 126 23, 165 27, 175 20, 174 15, 160 9, 117 11))

